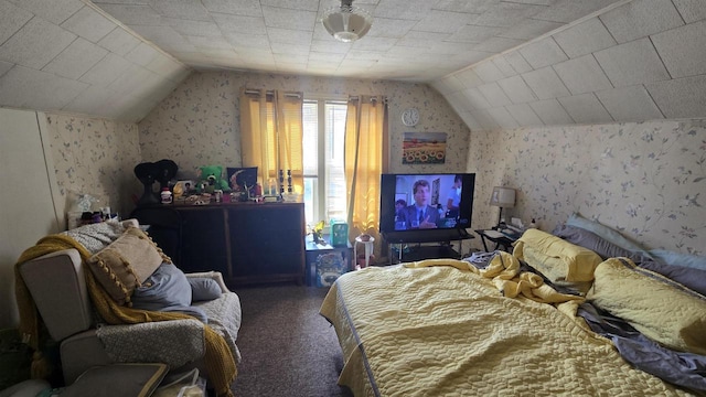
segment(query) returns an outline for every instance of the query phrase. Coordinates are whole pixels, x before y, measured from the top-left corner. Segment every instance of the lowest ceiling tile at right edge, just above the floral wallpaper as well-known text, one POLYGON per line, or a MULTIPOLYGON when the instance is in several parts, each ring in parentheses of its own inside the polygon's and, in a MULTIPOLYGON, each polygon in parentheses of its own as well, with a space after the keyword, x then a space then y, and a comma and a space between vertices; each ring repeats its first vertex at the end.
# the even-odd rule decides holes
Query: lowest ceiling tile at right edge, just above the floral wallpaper
POLYGON ((645 84, 645 87, 666 118, 693 118, 705 112, 704 75, 645 84))

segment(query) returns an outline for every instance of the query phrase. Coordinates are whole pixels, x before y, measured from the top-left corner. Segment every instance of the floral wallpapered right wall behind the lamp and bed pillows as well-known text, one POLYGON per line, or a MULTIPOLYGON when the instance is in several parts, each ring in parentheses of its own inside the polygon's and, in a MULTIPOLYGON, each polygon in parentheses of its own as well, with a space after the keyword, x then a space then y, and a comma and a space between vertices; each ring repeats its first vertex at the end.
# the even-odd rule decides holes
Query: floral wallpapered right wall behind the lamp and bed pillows
MULTIPOLYGON (((517 189, 505 210, 550 232, 578 212, 646 248, 706 255, 706 120, 472 132, 477 201, 517 189)), ((490 226, 498 208, 477 205, 490 226)), ((475 225, 479 225, 475 223, 475 225)))

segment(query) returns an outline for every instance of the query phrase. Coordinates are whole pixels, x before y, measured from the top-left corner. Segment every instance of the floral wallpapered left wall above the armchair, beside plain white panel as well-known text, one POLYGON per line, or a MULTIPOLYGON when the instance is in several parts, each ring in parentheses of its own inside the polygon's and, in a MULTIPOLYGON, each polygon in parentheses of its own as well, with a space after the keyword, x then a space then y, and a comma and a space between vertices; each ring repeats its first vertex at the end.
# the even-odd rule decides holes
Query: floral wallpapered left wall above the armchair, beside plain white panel
POLYGON ((46 125, 63 213, 78 194, 89 194, 98 200, 94 210, 110 206, 127 216, 132 194, 142 191, 132 171, 141 162, 137 125, 51 112, 46 125))

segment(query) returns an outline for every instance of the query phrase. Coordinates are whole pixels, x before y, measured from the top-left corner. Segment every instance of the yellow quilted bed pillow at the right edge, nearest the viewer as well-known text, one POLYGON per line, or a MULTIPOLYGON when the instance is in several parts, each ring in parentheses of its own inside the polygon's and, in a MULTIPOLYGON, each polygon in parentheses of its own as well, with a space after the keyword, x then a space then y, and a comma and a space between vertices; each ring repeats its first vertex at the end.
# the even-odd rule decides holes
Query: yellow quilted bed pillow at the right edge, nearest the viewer
POLYGON ((601 262, 586 298, 657 343, 706 354, 706 298, 629 259, 601 262))

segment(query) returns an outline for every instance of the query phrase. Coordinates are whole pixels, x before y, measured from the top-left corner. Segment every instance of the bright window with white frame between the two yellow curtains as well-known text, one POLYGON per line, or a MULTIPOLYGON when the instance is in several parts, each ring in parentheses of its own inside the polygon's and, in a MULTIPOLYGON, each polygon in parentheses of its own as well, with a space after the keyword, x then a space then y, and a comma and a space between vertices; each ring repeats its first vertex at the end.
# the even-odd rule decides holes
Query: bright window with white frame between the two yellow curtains
POLYGON ((347 103, 304 99, 303 174, 307 224, 346 219, 343 168, 347 103))

